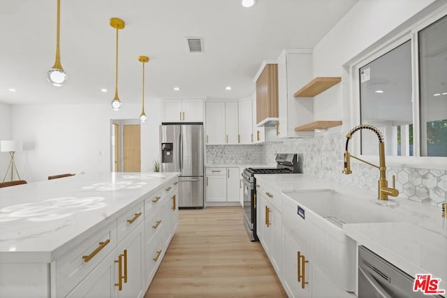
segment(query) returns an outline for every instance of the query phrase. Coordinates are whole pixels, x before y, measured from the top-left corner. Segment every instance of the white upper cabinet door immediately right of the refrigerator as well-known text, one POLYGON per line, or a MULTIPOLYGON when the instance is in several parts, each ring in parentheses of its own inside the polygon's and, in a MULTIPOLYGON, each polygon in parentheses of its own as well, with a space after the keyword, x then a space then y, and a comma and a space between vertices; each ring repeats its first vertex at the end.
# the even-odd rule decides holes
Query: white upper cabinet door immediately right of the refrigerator
POLYGON ((225 144, 225 103, 207 101, 205 110, 205 144, 225 144))

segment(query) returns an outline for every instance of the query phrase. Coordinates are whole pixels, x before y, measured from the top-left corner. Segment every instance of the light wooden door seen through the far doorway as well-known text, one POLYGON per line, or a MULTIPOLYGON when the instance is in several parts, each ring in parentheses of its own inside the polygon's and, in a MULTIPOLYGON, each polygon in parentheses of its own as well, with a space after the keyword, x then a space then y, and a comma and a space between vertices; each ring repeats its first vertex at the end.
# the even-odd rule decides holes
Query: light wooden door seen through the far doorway
POLYGON ((140 124, 123 125, 124 172, 140 172, 140 124))

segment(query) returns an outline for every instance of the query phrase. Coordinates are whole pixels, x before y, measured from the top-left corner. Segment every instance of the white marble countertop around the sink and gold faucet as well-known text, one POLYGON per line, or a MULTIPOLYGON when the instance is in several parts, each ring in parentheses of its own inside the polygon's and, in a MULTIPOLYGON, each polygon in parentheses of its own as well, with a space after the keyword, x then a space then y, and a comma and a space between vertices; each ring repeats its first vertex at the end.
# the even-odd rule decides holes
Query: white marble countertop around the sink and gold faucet
POLYGON ((441 278, 440 288, 447 290, 447 218, 441 216, 441 207, 402 198, 379 201, 372 191, 305 174, 262 174, 256 178, 265 180, 277 191, 331 188, 355 195, 365 204, 396 212, 400 218, 398 222, 350 223, 345 224, 343 230, 359 245, 366 246, 410 276, 427 273, 441 278))

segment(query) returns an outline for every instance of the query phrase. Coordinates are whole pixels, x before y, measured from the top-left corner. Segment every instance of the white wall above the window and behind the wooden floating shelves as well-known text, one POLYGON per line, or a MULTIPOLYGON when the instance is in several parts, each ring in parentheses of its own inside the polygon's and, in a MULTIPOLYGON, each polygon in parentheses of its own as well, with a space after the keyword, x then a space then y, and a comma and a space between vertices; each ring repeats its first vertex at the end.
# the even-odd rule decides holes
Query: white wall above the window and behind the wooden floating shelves
MULTIPOLYGON (((349 60, 433 2, 444 0, 359 0, 314 47, 314 77, 342 77, 349 60)), ((314 98, 314 120, 342 120, 347 99, 337 84, 314 98)))

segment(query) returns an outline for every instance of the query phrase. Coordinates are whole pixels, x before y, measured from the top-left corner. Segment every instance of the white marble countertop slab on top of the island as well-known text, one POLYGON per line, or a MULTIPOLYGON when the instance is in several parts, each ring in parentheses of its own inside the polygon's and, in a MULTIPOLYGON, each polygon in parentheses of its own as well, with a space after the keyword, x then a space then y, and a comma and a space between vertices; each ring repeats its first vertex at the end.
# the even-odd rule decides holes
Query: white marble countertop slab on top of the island
POLYGON ((51 262, 178 175, 78 174, 0 188, 0 262, 51 262))

